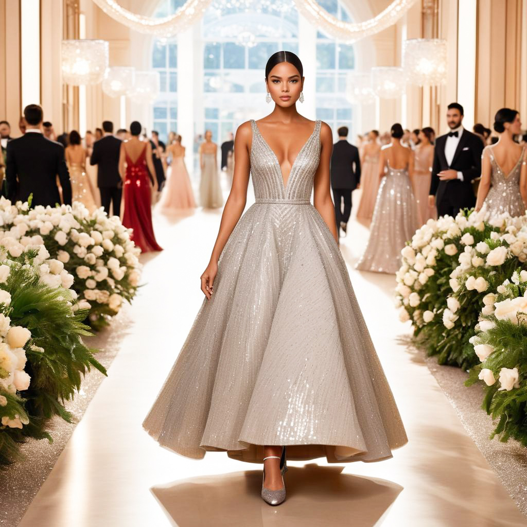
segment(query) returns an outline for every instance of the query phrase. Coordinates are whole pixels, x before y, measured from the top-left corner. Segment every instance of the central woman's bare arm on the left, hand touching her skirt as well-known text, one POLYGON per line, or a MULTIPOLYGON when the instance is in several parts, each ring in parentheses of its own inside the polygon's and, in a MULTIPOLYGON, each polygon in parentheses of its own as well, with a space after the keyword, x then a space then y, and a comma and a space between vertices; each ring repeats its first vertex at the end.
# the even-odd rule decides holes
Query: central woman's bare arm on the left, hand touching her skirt
POLYGON ((218 260, 221 252, 223 251, 223 247, 225 247, 231 232, 236 227, 247 202, 247 187, 249 185, 249 171, 251 168, 249 159, 251 140, 251 123, 246 121, 245 123, 240 124, 238 130, 236 130, 236 137, 234 140, 236 162, 234 166, 232 187, 227 202, 225 203, 225 207, 223 208, 220 229, 212 249, 209 265, 201 275, 201 290, 209 300, 212 296, 212 287, 214 285, 214 278, 216 278, 218 272, 218 260))

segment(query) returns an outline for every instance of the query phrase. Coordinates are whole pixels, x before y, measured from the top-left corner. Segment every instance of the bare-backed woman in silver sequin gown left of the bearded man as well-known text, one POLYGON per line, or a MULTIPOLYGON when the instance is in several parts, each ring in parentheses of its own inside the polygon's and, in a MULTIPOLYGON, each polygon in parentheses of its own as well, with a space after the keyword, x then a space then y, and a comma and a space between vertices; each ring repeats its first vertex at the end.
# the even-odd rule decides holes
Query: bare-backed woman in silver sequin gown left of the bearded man
POLYGON ((392 144, 380 151, 380 183, 368 245, 357 269, 395 273, 401 250, 419 228, 413 192, 414 153, 401 144, 403 128, 392 126, 392 144), (386 171, 386 173, 385 173, 386 171))

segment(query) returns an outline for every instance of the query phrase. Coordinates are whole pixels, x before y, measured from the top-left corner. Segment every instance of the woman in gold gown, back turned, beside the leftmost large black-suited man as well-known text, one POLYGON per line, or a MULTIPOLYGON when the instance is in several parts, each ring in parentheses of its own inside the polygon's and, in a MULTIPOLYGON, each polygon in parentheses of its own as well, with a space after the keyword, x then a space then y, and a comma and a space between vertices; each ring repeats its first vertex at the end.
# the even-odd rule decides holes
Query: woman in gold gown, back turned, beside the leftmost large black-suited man
POLYGON ((69 144, 64 157, 70 171, 72 202, 80 201, 93 212, 96 208, 94 191, 89 175, 86 174, 86 149, 81 145, 81 136, 76 130, 70 132, 69 144))

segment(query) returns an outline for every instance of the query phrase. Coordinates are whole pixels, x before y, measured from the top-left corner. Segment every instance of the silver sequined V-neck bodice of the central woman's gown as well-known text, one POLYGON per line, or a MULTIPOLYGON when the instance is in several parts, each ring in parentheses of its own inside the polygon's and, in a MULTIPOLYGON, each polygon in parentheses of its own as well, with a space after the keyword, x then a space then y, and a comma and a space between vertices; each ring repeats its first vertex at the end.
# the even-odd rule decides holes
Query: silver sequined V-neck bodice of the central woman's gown
POLYGON ((310 202, 313 180, 320 161, 320 124, 320 120, 315 122, 315 129, 298 152, 284 186, 276 154, 261 136, 256 121, 251 119, 251 179, 257 203, 310 202))

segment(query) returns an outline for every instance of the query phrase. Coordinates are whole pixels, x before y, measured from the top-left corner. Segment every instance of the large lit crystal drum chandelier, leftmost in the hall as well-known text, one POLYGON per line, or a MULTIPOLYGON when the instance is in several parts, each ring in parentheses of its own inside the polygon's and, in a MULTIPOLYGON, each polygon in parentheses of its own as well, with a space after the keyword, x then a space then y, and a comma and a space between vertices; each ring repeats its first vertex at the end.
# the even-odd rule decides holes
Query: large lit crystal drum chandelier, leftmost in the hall
POLYGON ((108 42, 105 40, 63 40, 62 76, 73 86, 99 84, 108 67, 108 42))

